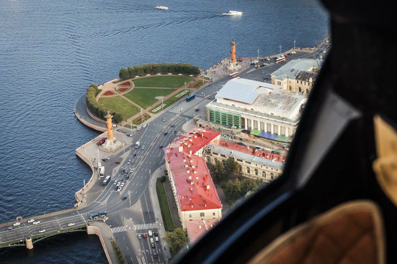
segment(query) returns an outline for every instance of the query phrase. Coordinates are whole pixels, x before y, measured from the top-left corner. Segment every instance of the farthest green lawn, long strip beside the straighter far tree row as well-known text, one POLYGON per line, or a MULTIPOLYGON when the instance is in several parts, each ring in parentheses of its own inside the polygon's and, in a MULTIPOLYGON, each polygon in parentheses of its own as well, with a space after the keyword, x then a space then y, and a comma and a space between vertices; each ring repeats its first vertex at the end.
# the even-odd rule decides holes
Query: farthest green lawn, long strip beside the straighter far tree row
POLYGON ((184 76, 151 76, 133 80, 137 87, 170 87, 180 88, 185 82, 190 82, 192 77, 184 76))

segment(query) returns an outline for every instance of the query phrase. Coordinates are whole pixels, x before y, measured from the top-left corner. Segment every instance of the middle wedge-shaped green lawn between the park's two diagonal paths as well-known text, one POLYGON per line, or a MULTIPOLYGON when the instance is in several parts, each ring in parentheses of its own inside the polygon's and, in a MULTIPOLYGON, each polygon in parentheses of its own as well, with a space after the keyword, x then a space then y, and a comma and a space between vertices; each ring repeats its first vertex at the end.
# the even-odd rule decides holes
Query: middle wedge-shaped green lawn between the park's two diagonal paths
POLYGON ((124 96, 137 105, 146 108, 157 102, 156 96, 168 96, 172 92, 175 92, 175 89, 133 88, 124 96))

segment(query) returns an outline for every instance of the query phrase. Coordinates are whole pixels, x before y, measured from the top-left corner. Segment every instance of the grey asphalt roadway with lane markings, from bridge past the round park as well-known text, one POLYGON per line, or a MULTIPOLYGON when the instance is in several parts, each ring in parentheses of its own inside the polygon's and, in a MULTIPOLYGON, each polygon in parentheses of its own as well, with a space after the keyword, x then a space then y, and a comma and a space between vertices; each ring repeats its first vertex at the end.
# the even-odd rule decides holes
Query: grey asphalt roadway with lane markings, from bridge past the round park
MULTIPOLYGON (((328 46, 325 47, 324 44, 326 43, 320 45, 320 50, 314 53, 308 54, 297 51, 297 54, 295 55, 288 55, 286 62, 297 58, 313 58, 317 53, 326 50, 325 54, 322 53, 324 59, 324 55, 328 53, 328 50, 331 46, 328 44, 328 46)), ((271 61, 268 61, 267 63, 269 62, 271 61)), ((263 81, 263 78, 267 77, 269 78, 268 82, 270 82, 270 74, 282 65, 284 65, 284 63, 270 63, 268 66, 265 66, 261 69, 255 69, 253 71, 251 71, 253 66, 250 66, 249 69, 241 73, 239 77, 258 81, 263 81)), ((23 219, 21 225, 13 226, 14 229, 10 231, 5 231, 5 229, 9 226, 5 226, 3 224, 1 225, 3 229, 0 231, 0 245, 15 243, 16 241, 20 241, 21 239, 29 236, 35 237, 43 234, 49 234, 54 231, 56 232, 58 230, 63 230, 67 228, 67 224, 69 223, 74 223, 75 227, 78 227, 87 224, 87 222, 103 221, 103 217, 96 220, 89 220, 88 215, 104 210, 108 212, 108 219, 105 219, 106 224, 111 225, 113 235, 127 263, 143 264, 142 262, 166 262, 163 254, 164 241, 160 239, 160 241, 154 242, 155 247, 152 248, 150 247, 151 243, 149 236, 146 237, 146 239, 140 239, 143 256, 137 258, 138 253, 134 252, 132 243, 128 238, 125 228, 123 229, 122 218, 124 216, 130 216, 133 218, 135 225, 141 225, 139 227, 143 228, 137 229, 137 233, 139 234, 147 234, 148 230, 152 230, 152 232, 158 231, 158 225, 156 224, 157 220, 155 218, 154 208, 152 206, 148 191, 148 183, 150 180, 150 172, 154 172, 154 170, 156 170, 161 163, 164 163, 164 161, 162 161, 164 158, 164 152, 159 147, 160 145, 168 145, 178 134, 181 134, 182 125, 187 121, 187 119, 191 119, 194 115, 202 114, 204 111, 204 106, 214 99, 216 92, 220 90, 228 80, 228 77, 222 77, 218 80, 214 80, 208 86, 195 91, 196 98, 192 101, 181 101, 176 103, 158 117, 150 119, 150 122, 145 128, 134 131, 133 142, 139 141, 141 145, 138 149, 134 149, 133 145, 126 146, 126 150, 130 149, 131 147, 131 153, 123 160, 118 169, 114 170, 112 180, 108 186, 102 187, 102 180, 98 180, 96 182, 96 186, 89 190, 88 195, 90 196, 89 201, 91 201, 91 203, 89 203, 86 207, 57 215, 40 216, 40 219, 35 220, 40 220, 41 223, 35 225, 32 223, 27 223, 27 220, 31 219, 27 217, 23 219), (210 96, 211 98, 206 99, 207 96, 210 96), (194 110, 195 107, 198 107, 199 111, 196 112, 194 110), (167 120, 162 121, 163 118, 166 118, 167 120), (171 127, 172 124, 175 126, 171 127), (177 132, 173 133, 174 130, 177 132), (165 132, 167 132, 167 135, 164 136, 165 132), (142 146, 145 146, 145 149, 142 149, 142 146), (133 157, 133 154, 135 153, 137 156, 133 157), (129 159, 131 159, 131 164, 127 164, 129 159), (114 182, 118 182, 119 180, 125 178, 124 175, 120 174, 121 170, 124 168, 128 171, 130 178, 128 181, 123 181, 125 182, 125 186, 122 187, 121 192, 114 191, 114 182), (129 172, 131 168, 134 168, 132 173, 129 172), (128 195, 128 191, 131 192, 130 195, 128 195), (122 200, 121 198, 124 196, 128 196, 129 198, 122 200), (139 199, 141 200, 140 213, 133 213, 131 210, 128 210, 127 212, 127 210, 125 210, 130 206, 129 199, 131 199, 131 205, 137 203, 139 199), (45 232, 39 233, 39 230, 43 229, 45 232), (158 258, 154 258, 154 253, 158 254, 158 258)), ((79 112, 79 114, 83 118, 86 118, 88 122, 93 122, 93 124, 103 126, 103 123, 92 119, 88 115, 84 102, 85 100, 83 95, 76 104, 76 110, 79 112), (83 103, 81 103, 81 101, 83 101, 83 103)), ((130 132, 127 128, 121 129, 130 132)), ((110 164, 114 164, 114 161, 121 161, 119 157, 121 154, 122 152, 116 157, 110 156, 110 161, 103 163, 105 168, 110 164)), ((109 172, 106 173, 106 175, 109 174, 109 172)))

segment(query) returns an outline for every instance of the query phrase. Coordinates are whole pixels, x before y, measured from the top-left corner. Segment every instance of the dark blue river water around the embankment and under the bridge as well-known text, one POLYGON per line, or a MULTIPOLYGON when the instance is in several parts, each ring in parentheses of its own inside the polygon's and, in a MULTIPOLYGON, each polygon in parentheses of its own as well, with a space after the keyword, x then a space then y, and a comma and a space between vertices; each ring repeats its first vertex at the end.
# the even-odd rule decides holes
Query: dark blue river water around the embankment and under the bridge
MULTIPOLYGON (((91 176, 75 148, 97 135, 73 109, 91 82, 150 62, 208 69, 230 55, 232 38, 237 57, 276 54, 294 40, 313 46, 327 25, 320 4, 304 0, 0 1, 0 220, 73 206, 91 176), (243 15, 221 15, 229 9, 243 15)), ((0 262, 106 262, 99 239, 87 237, 52 237, 31 252, 0 249, 0 262)))

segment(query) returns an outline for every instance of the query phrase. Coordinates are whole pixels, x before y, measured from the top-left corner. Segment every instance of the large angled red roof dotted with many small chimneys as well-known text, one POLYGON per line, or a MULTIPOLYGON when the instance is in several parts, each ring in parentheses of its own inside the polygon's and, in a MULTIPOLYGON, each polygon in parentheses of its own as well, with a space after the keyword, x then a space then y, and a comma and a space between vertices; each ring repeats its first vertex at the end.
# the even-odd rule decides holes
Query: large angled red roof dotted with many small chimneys
POLYGON ((219 135, 213 130, 193 128, 164 148, 182 211, 222 208, 204 158, 195 155, 219 135))

